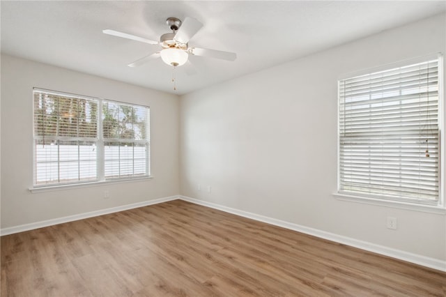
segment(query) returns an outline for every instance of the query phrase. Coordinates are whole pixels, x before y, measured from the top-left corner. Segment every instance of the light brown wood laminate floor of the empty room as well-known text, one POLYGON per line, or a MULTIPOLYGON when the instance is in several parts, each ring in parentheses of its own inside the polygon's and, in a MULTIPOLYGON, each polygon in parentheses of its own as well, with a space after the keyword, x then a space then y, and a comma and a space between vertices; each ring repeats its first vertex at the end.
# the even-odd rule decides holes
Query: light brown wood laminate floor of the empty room
POLYGON ((446 273, 170 201, 1 237, 1 296, 445 296, 446 273))

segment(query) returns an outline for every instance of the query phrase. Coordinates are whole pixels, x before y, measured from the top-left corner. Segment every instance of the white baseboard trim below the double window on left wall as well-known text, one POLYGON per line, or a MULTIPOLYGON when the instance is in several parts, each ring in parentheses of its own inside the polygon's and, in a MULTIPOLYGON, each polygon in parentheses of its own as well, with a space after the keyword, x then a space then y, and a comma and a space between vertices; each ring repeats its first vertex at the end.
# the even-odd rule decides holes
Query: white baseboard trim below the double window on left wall
POLYGON ((48 227, 48 226, 52 226, 54 224, 62 224, 64 222, 72 222, 72 221, 82 220, 82 219, 86 219, 86 218, 93 218, 93 217, 97 217, 99 215, 107 215, 109 213, 117 213, 118 211, 127 211, 128 209, 132 209, 132 208, 138 208, 138 207, 143 207, 143 206, 148 206, 148 205, 153 205, 153 204, 160 204, 163 202, 176 200, 176 199, 179 199, 179 197, 178 196, 164 197, 164 198, 160 198, 160 199, 147 200, 147 201, 141 201, 141 202, 137 202, 137 203, 133 203, 133 204, 126 204, 126 205, 122 205, 122 206, 100 209, 99 211, 89 211, 88 213, 79 213, 77 215, 68 215, 68 216, 62 217, 62 218, 44 220, 44 221, 40 221, 40 222, 33 222, 30 224, 21 224, 19 226, 0 229, 0 236, 14 234, 14 233, 23 232, 23 231, 29 231, 29 230, 43 228, 43 227, 48 227))

